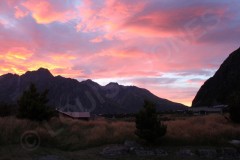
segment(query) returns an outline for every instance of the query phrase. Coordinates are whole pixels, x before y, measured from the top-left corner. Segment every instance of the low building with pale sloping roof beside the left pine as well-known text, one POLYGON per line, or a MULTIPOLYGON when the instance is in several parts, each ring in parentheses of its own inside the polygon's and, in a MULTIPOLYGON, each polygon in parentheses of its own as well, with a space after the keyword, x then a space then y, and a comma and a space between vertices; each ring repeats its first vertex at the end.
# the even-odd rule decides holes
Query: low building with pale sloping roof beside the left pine
POLYGON ((62 116, 69 117, 72 119, 90 120, 90 112, 64 112, 57 110, 62 116))

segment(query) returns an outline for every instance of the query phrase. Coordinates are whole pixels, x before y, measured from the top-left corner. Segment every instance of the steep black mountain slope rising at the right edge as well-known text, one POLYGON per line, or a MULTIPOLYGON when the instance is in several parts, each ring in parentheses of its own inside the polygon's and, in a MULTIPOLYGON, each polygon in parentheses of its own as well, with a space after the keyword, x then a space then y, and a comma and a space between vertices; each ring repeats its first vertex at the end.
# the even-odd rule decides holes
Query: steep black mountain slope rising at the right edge
POLYGON ((237 92, 240 92, 240 48, 231 53, 215 75, 203 84, 192 106, 227 105, 237 92))

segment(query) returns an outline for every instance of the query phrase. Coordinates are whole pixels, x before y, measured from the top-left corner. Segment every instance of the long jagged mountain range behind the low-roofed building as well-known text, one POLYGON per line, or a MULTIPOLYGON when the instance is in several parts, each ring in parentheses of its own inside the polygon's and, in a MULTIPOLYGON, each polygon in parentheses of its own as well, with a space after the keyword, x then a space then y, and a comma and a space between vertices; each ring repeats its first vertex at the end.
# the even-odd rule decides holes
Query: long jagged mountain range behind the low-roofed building
POLYGON ((92 80, 54 77, 47 69, 26 72, 19 76, 0 76, 0 101, 16 103, 24 90, 34 83, 40 91, 49 89, 49 104, 65 111, 93 113, 134 113, 144 100, 156 103, 159 111, 185 109, 185 106, 153 95, 146 89, 109 83, 101 86, 92 80))

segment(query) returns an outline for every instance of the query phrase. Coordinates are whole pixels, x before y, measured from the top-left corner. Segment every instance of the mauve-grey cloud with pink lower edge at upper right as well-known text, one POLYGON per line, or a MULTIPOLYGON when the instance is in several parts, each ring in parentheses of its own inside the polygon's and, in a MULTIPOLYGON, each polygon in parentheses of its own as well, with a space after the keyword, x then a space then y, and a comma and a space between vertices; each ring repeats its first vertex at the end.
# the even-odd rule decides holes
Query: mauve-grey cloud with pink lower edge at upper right
MULTIPOLYGON (((153 6, 149 6, 151 8, 153 6)), ((186 6, 153 8, 129 18, 123 27, 142 36, 201 36, 222 19, 225 6, 186 6)))

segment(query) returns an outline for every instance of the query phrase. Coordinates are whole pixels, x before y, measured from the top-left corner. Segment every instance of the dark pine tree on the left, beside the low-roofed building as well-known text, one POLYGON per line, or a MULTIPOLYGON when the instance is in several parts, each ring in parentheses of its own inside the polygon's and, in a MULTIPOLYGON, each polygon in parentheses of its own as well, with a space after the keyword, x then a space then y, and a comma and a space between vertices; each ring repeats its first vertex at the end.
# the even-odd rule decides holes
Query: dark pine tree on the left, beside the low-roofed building
POLYGON ((47 105, 48 90, 39 93, 34 84, 24 91, 18 100, 18 117, 33 121, 49 120, 54 115, 54 110, 47 105))

